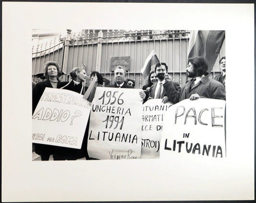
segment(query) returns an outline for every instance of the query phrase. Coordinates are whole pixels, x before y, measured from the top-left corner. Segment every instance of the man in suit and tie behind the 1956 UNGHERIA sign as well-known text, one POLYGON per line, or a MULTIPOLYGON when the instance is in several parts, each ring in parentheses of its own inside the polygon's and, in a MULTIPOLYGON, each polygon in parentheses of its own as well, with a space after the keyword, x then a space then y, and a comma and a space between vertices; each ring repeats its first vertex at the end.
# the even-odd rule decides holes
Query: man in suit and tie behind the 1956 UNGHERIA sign
MULTIPOLYGON (((127 85, 125 82, 126 71, 122 66, 117 66, 114 71, 115 82, 114 84, 107 85, 108 88, 134 88, 133 86, 127 85)), ((139 92, 140 97, 144 100, 146 94, 144 91, 139 92)))

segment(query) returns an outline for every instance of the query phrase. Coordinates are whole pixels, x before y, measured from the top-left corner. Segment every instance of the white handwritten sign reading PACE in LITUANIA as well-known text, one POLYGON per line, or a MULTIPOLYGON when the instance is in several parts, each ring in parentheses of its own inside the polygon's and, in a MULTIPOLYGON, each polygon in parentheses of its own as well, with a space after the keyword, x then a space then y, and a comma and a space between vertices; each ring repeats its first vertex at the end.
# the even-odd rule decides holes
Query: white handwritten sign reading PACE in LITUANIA
POLYGON ((224 158, 224 100, 183 100, 164 114, 160 158, 224 158))

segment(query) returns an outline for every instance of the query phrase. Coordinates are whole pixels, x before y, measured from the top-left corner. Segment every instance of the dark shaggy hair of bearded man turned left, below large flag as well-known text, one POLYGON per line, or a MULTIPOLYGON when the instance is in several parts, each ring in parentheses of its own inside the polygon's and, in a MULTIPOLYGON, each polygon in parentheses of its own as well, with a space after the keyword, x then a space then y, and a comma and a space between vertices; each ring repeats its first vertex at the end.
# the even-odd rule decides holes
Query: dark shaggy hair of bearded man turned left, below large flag
POLYGON ((188 59, 189 62, 193 65, 196 76, 208 75, 208 64, 203 56, 191 57, 188 59))

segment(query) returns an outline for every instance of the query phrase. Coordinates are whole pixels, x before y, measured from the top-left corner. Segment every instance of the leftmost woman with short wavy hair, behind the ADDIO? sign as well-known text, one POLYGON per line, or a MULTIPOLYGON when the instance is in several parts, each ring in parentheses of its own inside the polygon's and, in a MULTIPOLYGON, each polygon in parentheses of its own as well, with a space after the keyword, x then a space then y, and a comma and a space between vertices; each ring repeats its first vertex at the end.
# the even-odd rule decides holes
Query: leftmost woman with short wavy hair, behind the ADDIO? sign
MULTIPOLYGON (((45 88, 61 88, 62 83, 58 79, 61 76, 61 67, 55 61, 48 61, 45 63, 45 76, 47 79, 37 82, 32 90, 32 114, 36 110, 45 88)), ((53 154, 54 146, 35 143, 35 152, 41 156, 42 161, 48 161, 51 154, 53 154)))

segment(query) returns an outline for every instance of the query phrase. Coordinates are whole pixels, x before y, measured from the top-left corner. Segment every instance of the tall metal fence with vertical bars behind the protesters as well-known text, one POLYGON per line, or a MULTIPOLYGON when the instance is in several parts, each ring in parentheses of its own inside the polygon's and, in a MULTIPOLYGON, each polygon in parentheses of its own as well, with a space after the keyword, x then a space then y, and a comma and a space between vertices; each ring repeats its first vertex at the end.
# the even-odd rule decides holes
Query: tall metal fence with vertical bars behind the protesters
MULTIPOLYGON (((110 83, 113 83, 114 75, 110 71, 110 58, 130 56, 128 78, 135 80, 136 88, 141 88, 146 84, 146 80, 142 77, 140 70, 146 57, 152 50, 155 50, 159 60, 168 65, 168 73, 173 80, 178 81, 181 86, 187 80, 185 69, 190 35, 188 31, 82 30, 74 34, 70 30, 67 31, 66 37, 60 38, 59 42, 52 47, 42 50, 42 45, 37 46, 37 50, 32 54, 34 75, 43 73, 44 63, 53 60, 61 65, 64 73, 67 73, 63 80, 69 80, 69 72, 73 67, 83 65, 88 75, 96 70, 102 73, 104 78, 110 80, 110 83)), ((225 53, 225 42, 219 58, 222 53, 225 53)), ((219 71, 217 59, 210 77, 214 77, 219 71)))

